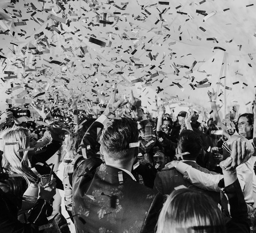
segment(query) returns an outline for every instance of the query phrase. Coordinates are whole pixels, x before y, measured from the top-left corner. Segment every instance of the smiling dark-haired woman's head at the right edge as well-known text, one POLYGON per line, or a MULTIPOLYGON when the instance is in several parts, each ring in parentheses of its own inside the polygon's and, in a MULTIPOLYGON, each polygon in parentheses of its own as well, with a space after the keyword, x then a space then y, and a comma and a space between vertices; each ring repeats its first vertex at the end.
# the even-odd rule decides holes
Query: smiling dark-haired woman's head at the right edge
POLYGON ((239 116, 237 121, 238 133, 247 139, 252 139, 253 136, 253 115, 244 113, 239 116))

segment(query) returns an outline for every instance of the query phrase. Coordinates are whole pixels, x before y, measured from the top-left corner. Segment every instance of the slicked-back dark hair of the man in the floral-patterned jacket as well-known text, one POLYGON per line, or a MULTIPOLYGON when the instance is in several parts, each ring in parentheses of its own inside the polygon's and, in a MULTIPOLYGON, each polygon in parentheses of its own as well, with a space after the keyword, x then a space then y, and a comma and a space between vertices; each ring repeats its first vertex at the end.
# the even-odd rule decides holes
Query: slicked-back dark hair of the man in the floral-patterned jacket
POLYGON ((113 160, 129 160, 135 152, 134 148, 129 148, 129 144, 138 142, 138 135, 135 120, 127 117, 111 119, 101 133, 101 151, 113 160))

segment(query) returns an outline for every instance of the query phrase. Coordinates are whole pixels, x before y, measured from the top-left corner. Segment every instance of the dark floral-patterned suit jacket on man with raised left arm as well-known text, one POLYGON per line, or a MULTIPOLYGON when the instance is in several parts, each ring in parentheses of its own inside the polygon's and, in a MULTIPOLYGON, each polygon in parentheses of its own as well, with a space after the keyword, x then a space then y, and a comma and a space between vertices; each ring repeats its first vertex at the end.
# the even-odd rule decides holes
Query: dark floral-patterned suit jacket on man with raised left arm
POLYGON ((72 214, 76 232, 154 232, 162 194, 94 156, 97 128, 102 129, 103 124, 94 122, 80 145, 80 149, 87 148, 87 159, 80 156, 74 165, 72 214))

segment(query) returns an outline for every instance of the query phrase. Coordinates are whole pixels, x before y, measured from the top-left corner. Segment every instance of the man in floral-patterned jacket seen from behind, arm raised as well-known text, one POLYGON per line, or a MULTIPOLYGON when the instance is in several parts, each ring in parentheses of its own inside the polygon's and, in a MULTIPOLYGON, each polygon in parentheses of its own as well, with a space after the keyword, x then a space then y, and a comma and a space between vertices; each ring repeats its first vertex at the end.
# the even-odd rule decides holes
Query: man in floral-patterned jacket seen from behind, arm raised
POLYGON ((73 174, 72 214, 76 232, 154 232, 162 194, 136 182, 138 125, 131 118, 111 118, 124 100, 114 102, 87 130, 79 146, 73 174), (101 136, 100 136, 101 133, 101 136), (103 161, 95 154, 100 139, 103 161))

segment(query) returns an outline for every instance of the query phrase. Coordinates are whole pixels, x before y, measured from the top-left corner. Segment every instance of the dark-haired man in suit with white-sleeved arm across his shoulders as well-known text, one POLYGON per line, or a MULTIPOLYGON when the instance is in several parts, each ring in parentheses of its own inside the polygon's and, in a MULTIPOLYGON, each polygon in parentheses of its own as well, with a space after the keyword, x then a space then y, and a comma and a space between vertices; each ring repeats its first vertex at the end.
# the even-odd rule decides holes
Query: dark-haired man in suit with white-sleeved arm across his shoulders
MULTIPOLYGON (((201 152, 202 147, 202 139, 196 132, 187 129, 184 129, 181 132, 177 150, 178 154, 183 154, 182 161, 192 166, 193 168, 203 171, 205 173, 217 174, 215 172, 211 172, 206 168, 199 166, 196 163, 196 158, 201 152), (187 153, 184 154, 185 152, 187 153)), ((158 192, 161 192, 164 195, 170 194, 174 190, 174 188, 179 185, 197 188, 196 186, 192 185, 190 182, 185 180, 183 178, 183 175, 180 172, 178 172, 175 169, 175 167, 172 166, 171 164, 169 166, 166 166, 164 169, 162 169, 162 171, 156 174, 154 189, 157 190, 158 192)), ((219 201, 219 193, 205 190, 204 192, 210 195, 216 202, 219 201)))

